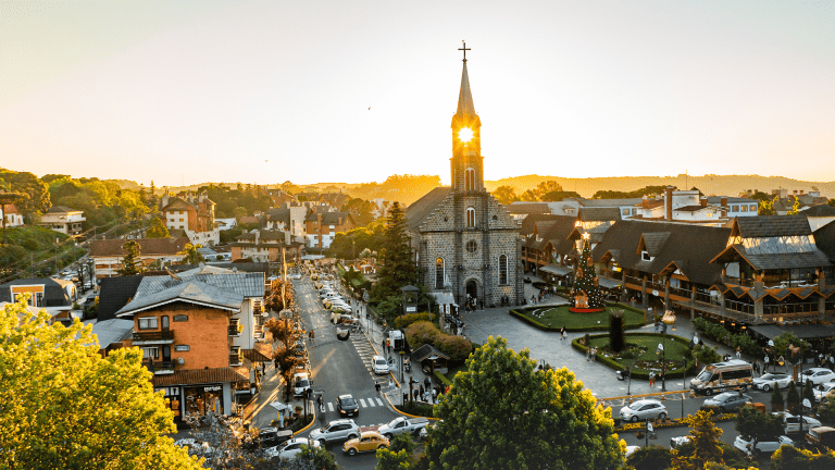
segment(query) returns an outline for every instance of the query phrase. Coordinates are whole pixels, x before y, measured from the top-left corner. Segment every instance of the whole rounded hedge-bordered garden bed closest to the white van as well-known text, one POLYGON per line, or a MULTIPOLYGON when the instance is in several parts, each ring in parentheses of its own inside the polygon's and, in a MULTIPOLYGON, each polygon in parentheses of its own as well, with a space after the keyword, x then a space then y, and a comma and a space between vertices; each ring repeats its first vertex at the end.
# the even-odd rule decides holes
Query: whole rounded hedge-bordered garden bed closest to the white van
MULTIPOLYGON (((653 371, 658 378, 661 372, 661 357, 656 355, 656 347, 662 343, 661 333, 626 333, 626 349, 614 355, 607 350, 609 345, 608 334, 591 335, 588 337, 590 347, 597 347, 597 361, 614 370, 630 368, 633 379, 648 380, 649 372, 653 371)), ((586 345, 582 344, 583 338, 575 338, 571 346, 585 354, 586 345)), ((681 379, 684 376, 683 355, 689 347, 689 342, 680 336, 666 335, 666 372, 665 378, 681 379)), ((688 370, 694 371, 695 367, 688 362, 688 370)), ((659 378, 660 379, 660 378, 659 378)))

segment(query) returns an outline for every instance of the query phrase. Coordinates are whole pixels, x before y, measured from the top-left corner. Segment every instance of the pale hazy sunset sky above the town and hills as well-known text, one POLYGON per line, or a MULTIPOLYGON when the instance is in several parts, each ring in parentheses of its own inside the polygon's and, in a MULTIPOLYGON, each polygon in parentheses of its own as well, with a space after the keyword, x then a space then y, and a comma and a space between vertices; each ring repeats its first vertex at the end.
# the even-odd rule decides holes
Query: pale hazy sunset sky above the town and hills
POLYGON ((834 25, 832 0, 2 1, 0 166, 448 184, 466 39, 488 180, 833 181, 834 25))

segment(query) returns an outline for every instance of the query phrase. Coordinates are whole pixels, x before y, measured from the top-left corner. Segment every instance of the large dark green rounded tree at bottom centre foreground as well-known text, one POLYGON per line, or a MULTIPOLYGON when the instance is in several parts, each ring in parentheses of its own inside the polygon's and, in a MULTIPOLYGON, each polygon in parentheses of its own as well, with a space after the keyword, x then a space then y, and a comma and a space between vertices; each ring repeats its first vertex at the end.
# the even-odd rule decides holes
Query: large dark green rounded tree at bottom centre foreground
POLYGON ((432 469, 615 469, 626 444, 614 434, 611 409, 596 405, 568 369, 536 370, 490 336, 456 374, 435 407, 432 469))

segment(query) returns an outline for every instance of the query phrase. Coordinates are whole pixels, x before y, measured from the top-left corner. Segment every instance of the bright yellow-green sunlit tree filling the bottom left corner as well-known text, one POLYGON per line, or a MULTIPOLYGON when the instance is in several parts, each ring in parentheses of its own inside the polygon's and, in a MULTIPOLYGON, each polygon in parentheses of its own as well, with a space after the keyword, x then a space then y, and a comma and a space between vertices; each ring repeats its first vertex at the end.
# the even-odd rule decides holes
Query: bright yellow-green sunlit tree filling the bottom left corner
POLYGON ((0 468, 198 469, 138 348, 99 355, 91 326, 49 324, 27 299, 0 310, 0 468))

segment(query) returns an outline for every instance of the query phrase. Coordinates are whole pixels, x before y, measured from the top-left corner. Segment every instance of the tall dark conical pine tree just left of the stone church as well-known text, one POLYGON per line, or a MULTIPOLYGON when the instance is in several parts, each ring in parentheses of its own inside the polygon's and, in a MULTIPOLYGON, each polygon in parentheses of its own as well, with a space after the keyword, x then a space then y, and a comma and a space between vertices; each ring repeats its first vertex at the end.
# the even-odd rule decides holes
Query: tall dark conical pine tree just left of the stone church
POLYGON ((386 221, 386 234, 381 250, 381 267, 374 284, 372 300, 379 302, 399 296, 400 288, 418 282, 418 269, 412 262, 412 249, 406 235, 406 214, 399 202, 391 206, 386 221))

